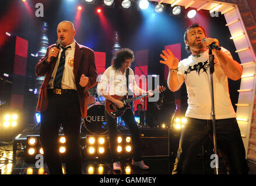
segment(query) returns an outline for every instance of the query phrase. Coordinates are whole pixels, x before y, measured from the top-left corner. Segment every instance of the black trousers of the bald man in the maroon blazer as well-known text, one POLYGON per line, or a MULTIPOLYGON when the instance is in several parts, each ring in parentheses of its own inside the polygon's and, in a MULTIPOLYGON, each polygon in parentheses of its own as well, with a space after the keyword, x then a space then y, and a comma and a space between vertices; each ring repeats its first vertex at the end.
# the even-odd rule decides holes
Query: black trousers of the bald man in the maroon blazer
POLYGON ((41 112, 40 136, 50 174, 62 174, 61 157, 58 152, 58 131, 61 124, 66 138, 66 173, 82 173, 79 144, 80 123, 77 92, 74 90, 57 95, 48 91, 48 108, 45 112, 41 112))

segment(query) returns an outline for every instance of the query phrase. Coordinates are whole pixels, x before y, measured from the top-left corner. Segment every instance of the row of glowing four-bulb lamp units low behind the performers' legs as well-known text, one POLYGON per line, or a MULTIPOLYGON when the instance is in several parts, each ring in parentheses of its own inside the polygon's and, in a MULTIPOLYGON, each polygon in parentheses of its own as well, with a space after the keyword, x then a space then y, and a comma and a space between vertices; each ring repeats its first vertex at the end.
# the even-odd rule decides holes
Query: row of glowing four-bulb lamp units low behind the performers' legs
MULTIPOLYGON (((66 138, 64 135, 59 135, 58 146, 60 155, 65 155, 66 152, 66 138)), ((118 155, 131 155, 132 145, 131 137, 129 135, 118 135, 117 137, 117 149, 116 152, 118 155)), ((86 146, 85 146, 85 155, 90 158, 103 158, 107 156, 109 152, 107 136, 98 136, 98 135, 87 135, 86 136, 86 146)), ((84 148, 83 148, 84 149, 84 148)), ((39 135, 27 136, 26 144, 26 161, 30 162, 35 160, 35 156, 40 153, 44 154, 40 137, 39 135)), ((83 153, 84 154, 84 153, 83 153)))

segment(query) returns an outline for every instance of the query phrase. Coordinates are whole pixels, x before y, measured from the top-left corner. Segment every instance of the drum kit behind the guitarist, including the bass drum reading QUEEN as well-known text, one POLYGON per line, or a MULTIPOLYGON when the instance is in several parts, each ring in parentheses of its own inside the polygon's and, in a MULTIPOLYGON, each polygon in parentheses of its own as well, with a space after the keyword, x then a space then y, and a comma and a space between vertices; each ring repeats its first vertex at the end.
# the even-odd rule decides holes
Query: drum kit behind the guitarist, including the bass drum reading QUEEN
MULTIPOLYGON (((87 99, 87 117, 82 119, 81 127, 85 127, 89 133, 93 135, 103 135, 107 133, 107 122, 105 120, 105 98, 97 94, 96 87, 89 89, 89 97, 87 99)), ((121 117, 117 118, 117 129, 119 132, 128 131, 125 122, 121 117)), ((81 131, 81 130, 80 130, 81 131)))

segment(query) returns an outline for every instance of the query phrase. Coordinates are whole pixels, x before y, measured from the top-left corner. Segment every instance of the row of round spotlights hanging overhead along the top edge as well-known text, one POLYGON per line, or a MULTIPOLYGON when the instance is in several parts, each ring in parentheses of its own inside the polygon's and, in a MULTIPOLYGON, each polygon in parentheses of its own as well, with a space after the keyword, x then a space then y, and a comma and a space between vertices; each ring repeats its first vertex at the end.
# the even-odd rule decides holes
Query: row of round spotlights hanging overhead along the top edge
MULTIPOLYGON (((94 3, 96 0, 84 0, 86 3, 94 3)), ((115 0, 103 0, 103 5, 104 6, 108 6, 108 7, 111 7, 111 6, 114 6, 114 3, 115 3, 115 0)), ((178 16, 181 14, 181 6, 175 6, 176 4, 178 3, 177 2, 173 2, 171 4, 171 14, 174 15, 174 16, 178 16)), ((132 0, 122 0, 121 1, 121 8, 123 9, 129 9, 131 8, 131 5, 132 5, 132 0)), ((145 10, 145 9, 148 9, 149 7, 149 1, 148 0, 141 0, 139 1, 139 8, 142 9, 142 10, 145 10)), ((82 6, 78 6, 78 9, 81 10, 82 9, 82 6)), ((156 3, 156 6, 155 6, 155 12, 156 13, 162 13, 164 12, 164 10, 167 9, 166 5, 164 4, 157 4, 156 3)), ((101 12, 101 9, 97 9, 97 12, 100 13, 101 12)), ((195 16, 197 15, 197 10, 195 9, 191 9, 187 12, 187 17, 192 19, 194 18, 195 16)))

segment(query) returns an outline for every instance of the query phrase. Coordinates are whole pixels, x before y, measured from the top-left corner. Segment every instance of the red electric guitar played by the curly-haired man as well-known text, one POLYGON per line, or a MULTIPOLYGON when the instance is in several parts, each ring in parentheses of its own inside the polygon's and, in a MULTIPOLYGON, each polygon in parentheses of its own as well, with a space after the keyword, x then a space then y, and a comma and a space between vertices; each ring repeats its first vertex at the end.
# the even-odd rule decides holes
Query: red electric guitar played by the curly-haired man
MULTIPOLYGON (((161 86, 161 87, 156 88, 155 90, 153 90, 152 93, 153 94, 154 94, 154 92, 162 93, 165 90, 166 90, 166 87, 161 86)), ((131 108, 131 106, 129 105, 130 102, 135 101, 136 99, 140 99, 140 98, 143 98, 145 96, 148 96, 148 93, 138 95, 138 96, 136 96, 134 98, 130 98, 130 99, 128 99, 127 96, 118 96, 118 95, 111 95, 111 96, 113 96, 113 98, 118 99, 121 102, 123 102, 124 106, 122 108, 118 108, 113 102, 106 99, 105 100, 105 108, 107 110, 107 113, 108 113, 108 115, 110 115, 112 117, 120 117, 124 114, 126 109, 131 108)))

